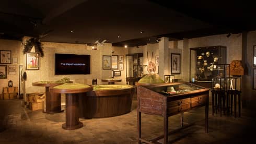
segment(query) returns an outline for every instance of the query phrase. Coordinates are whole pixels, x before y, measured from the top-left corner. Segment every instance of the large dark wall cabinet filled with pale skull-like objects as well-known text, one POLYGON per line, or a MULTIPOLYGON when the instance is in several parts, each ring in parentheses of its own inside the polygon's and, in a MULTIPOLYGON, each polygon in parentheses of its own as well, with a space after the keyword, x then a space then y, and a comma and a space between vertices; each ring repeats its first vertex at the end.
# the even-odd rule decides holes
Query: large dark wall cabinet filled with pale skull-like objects
POLYGON ((226 46, 190 48, 190 81, 211 82, 218 64, 226 64, 226 46))

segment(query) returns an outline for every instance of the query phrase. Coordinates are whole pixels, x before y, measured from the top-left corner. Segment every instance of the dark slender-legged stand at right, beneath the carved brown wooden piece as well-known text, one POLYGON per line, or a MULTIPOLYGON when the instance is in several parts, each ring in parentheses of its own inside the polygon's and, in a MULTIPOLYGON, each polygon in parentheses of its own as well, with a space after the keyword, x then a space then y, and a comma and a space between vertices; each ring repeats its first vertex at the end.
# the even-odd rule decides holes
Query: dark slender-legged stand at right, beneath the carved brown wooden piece
POLYGON ((234 114, 237 117, 237 97, 238 97, 238 116, 241 117, 241 91, 228 90, 227 95, 230 95, 230 114, 232 114, 232 105, 234 97, 234 114))

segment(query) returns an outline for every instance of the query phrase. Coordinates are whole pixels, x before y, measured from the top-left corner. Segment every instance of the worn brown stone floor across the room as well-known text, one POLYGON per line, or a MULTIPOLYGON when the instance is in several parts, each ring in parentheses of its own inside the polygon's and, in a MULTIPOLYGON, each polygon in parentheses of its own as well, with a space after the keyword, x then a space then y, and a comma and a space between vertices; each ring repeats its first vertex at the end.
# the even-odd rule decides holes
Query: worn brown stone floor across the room
MULTIPOLYGON (((180 115, 169 118, 169 129, 179 128, 180 115)), ((255 143, 255 113, 242 109, 241 117, 212 115, 204 133, 204 107, 184 113, 184 122, 195 123, 169 136, 169 143, 255 143)), ((64 130, 65 112, 45 114, 21 106, 20 99, 0 100, 0 143, 137 143, 136 101, 125 115, 79 119, 84 127, 64 130)), ((162 134, 163 118, 142 114, 142 137, 162 134)), ((160 142, 162 140, 159 140, 160 142)))

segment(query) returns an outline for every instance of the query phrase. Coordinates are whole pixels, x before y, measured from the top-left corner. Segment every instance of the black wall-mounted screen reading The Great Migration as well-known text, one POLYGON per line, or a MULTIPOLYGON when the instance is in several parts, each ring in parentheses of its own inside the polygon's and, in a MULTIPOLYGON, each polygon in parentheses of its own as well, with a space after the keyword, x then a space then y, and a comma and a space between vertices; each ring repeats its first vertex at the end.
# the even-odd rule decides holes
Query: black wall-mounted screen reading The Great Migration
POLYGON ((55 53, 55 75, 90 74, 90 55, 55 53))

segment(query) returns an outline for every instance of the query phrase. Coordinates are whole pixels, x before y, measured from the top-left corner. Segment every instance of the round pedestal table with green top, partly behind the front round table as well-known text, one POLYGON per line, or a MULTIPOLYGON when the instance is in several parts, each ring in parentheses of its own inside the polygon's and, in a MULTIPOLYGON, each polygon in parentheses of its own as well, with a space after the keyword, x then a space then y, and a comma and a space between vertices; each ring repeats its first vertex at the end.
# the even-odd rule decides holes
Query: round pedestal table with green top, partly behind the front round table
POLYGON ((61 94, 54 93, 49 90, 50 87, 62 85, 63 83, 73 83, 73 81, 36 81, 32 82, 32 86, 45 87, 45 111, 43 113, 60 113, 61 110, 61 94))

